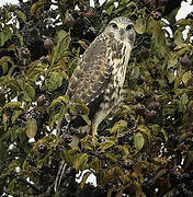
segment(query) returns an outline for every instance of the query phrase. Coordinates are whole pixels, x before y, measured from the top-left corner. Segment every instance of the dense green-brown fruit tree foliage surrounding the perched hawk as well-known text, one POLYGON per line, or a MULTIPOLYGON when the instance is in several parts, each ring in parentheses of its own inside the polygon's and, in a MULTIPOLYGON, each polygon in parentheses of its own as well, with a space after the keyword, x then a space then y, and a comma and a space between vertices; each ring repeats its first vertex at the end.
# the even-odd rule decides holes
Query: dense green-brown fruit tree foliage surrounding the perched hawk
POLYGON ((115 1, 0 8, 0 196, 193 196, 193 13, 175 22, 181 0, 115 1), (120 15, 137 32, 122 105, 96 138, 75 128, 58 137, 67 112, 90 124, 87 106, 69 107, 65 92, 80 55, 120 15), (72 149, 76 135, 81 146, 72 149), (98 187, 86 184, 90 174, 98 187))

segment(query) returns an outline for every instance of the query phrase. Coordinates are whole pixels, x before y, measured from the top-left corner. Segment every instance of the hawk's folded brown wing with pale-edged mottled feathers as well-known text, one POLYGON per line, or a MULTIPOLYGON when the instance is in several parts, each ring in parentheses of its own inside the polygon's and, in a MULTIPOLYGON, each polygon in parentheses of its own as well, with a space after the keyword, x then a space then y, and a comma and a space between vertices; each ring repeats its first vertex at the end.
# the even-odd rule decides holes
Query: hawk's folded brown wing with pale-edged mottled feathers
POLYGON ((80 101, 88 105, 105 90, 112 73, 105 40, 105 35, 98 36, 78 62, 67 90, 71 103, 80 101))

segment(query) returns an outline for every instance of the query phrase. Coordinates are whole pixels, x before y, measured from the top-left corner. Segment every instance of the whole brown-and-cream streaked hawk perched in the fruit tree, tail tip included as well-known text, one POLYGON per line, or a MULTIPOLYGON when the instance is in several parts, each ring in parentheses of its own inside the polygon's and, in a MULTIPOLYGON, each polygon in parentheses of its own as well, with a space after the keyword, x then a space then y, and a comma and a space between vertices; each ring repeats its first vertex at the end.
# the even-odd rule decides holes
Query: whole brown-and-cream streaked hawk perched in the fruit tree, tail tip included
MULTIPOLYGON (((69 80, 66 94, 71 104, 82 102, 90 108, 92 136, 98 134, 101 121, 121 102, 121 90, 135 37, 134 23, 129 19, 113 19, 87 48, 69 80)), ((69 123, 77 121, 70 115, 66 119, 69 123)), ((63 166, 59 172, 55 190, 58 188, 57 181, 60 183, 63 166)))

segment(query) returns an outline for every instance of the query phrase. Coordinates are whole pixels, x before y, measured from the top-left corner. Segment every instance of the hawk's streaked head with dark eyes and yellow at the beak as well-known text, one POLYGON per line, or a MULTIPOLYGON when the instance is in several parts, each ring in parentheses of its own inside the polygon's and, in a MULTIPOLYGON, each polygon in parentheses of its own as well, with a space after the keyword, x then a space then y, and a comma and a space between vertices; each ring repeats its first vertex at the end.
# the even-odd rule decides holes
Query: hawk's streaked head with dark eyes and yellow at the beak
POLYGON ((104 32, 116 39, 127 42, 134 46, 136 33, 134 31, 134 23, 128 18, 113 19, 104 32))

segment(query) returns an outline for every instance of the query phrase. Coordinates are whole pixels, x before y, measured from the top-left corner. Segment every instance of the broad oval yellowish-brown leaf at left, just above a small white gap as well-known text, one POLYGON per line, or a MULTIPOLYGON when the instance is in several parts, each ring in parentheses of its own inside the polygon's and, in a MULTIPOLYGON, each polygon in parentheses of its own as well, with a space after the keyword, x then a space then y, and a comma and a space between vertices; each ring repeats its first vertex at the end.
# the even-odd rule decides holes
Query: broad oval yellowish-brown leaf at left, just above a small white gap
POLYGON ((26 136, 31 139, 37 134, 37 124, 35 119, 29 119, 25 125, 26 136))

